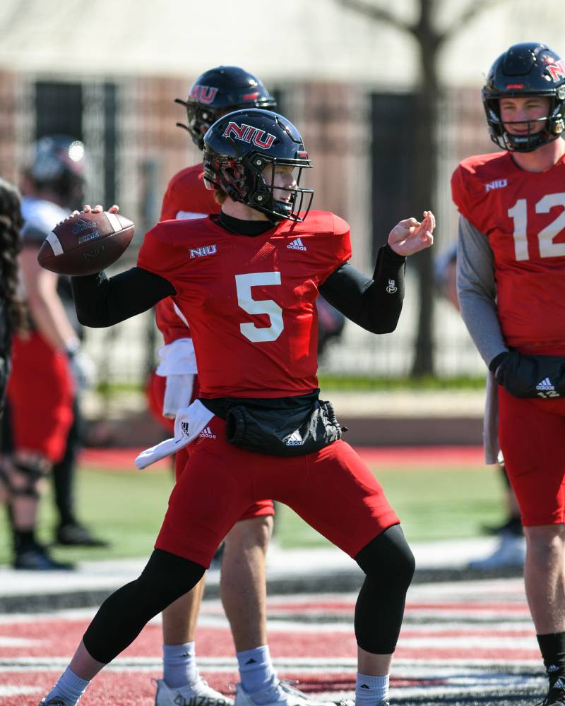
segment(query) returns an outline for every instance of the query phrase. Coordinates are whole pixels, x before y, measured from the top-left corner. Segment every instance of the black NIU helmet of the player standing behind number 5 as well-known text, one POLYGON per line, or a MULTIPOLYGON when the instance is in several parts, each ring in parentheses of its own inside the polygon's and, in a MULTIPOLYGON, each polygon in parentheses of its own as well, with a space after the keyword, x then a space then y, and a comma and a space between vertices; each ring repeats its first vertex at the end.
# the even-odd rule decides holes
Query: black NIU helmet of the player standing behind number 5
POLYGON ((240 108, 275 109, 277 102, 261 81, 239 66, 217 66, 198 76, 189 88, 186 100, 176 103, 186 107, 188 125, 177 125, 189 131, 199 149, 210 125, 226 113, 240 108))

